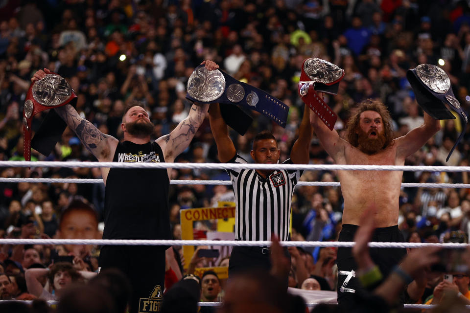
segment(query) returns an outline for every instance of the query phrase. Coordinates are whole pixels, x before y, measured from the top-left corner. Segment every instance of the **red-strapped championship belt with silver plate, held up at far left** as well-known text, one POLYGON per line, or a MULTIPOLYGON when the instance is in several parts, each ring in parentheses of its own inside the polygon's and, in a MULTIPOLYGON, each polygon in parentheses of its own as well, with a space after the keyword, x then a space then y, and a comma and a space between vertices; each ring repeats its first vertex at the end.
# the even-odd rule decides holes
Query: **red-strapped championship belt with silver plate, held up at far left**
POLYGON ((69 83, 55 73, 47 74, 43 79, 31 84, 23 110, 23 153, 26 161, 31 160, 31 147, 48 156, 67 127, 64 120, 54 110, 50 110, 31 142, 31 122, 34 115, 61 107, 72 100, 76 101, 76 97, 69 83))

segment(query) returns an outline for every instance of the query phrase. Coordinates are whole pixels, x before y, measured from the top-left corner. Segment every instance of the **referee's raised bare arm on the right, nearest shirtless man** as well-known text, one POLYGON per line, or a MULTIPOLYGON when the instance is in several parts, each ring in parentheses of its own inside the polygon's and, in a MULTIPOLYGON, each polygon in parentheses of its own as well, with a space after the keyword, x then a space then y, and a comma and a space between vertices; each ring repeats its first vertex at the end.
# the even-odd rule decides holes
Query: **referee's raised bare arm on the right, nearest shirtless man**
POLYGON ((296 164, 307 164, 310 159, 308 150, 313 134, 313 128, 310 124, 310 112, 311 110, 305 105, 304 116, 302 117, 302 122, 299 127, 299 138, 294 142, 294 146, 290 152, 290 159, 296 164))

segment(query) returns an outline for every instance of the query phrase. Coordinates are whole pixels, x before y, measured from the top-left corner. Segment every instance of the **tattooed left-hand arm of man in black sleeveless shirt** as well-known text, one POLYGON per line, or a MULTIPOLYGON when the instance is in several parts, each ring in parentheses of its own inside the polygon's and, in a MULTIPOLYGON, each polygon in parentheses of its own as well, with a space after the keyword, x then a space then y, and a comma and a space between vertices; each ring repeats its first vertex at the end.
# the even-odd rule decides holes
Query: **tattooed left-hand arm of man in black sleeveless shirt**
POLYGON ((70 104, 54 110, 99 161, 110 160, 111 147, 117 145, 118 139, 101 133, 92 123, 82 118, 70 104))

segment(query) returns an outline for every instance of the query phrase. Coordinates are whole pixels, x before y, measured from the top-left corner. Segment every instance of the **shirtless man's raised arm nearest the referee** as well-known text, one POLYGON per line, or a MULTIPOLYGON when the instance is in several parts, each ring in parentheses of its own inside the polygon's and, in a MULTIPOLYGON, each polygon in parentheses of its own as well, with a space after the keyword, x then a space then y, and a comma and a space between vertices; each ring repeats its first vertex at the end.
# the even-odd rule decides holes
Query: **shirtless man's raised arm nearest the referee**
POLYGON ((335 160, 336 163, 339 163, 338 160, 341 159, 341 156, 344 156, 344 150, 347 142, 342 139, 335 130, 330 131, 325 123, 323 123, 312 110, 308 111, 313 131, 320 140, 323 148, 335 160))

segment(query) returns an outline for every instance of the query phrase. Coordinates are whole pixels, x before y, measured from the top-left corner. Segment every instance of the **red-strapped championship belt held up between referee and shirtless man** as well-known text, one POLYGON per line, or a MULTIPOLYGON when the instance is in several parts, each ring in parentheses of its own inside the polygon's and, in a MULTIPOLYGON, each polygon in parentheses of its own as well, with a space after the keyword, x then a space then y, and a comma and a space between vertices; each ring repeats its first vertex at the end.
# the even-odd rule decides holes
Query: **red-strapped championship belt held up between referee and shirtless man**
POLYGON ((344 69, 328 61, 309 58, 304 60, 300 74, 299 95, 306 105, 332 131, 338 116, 316 91, 329 94, 338 93, 339 81, 344 77, 344 69))

